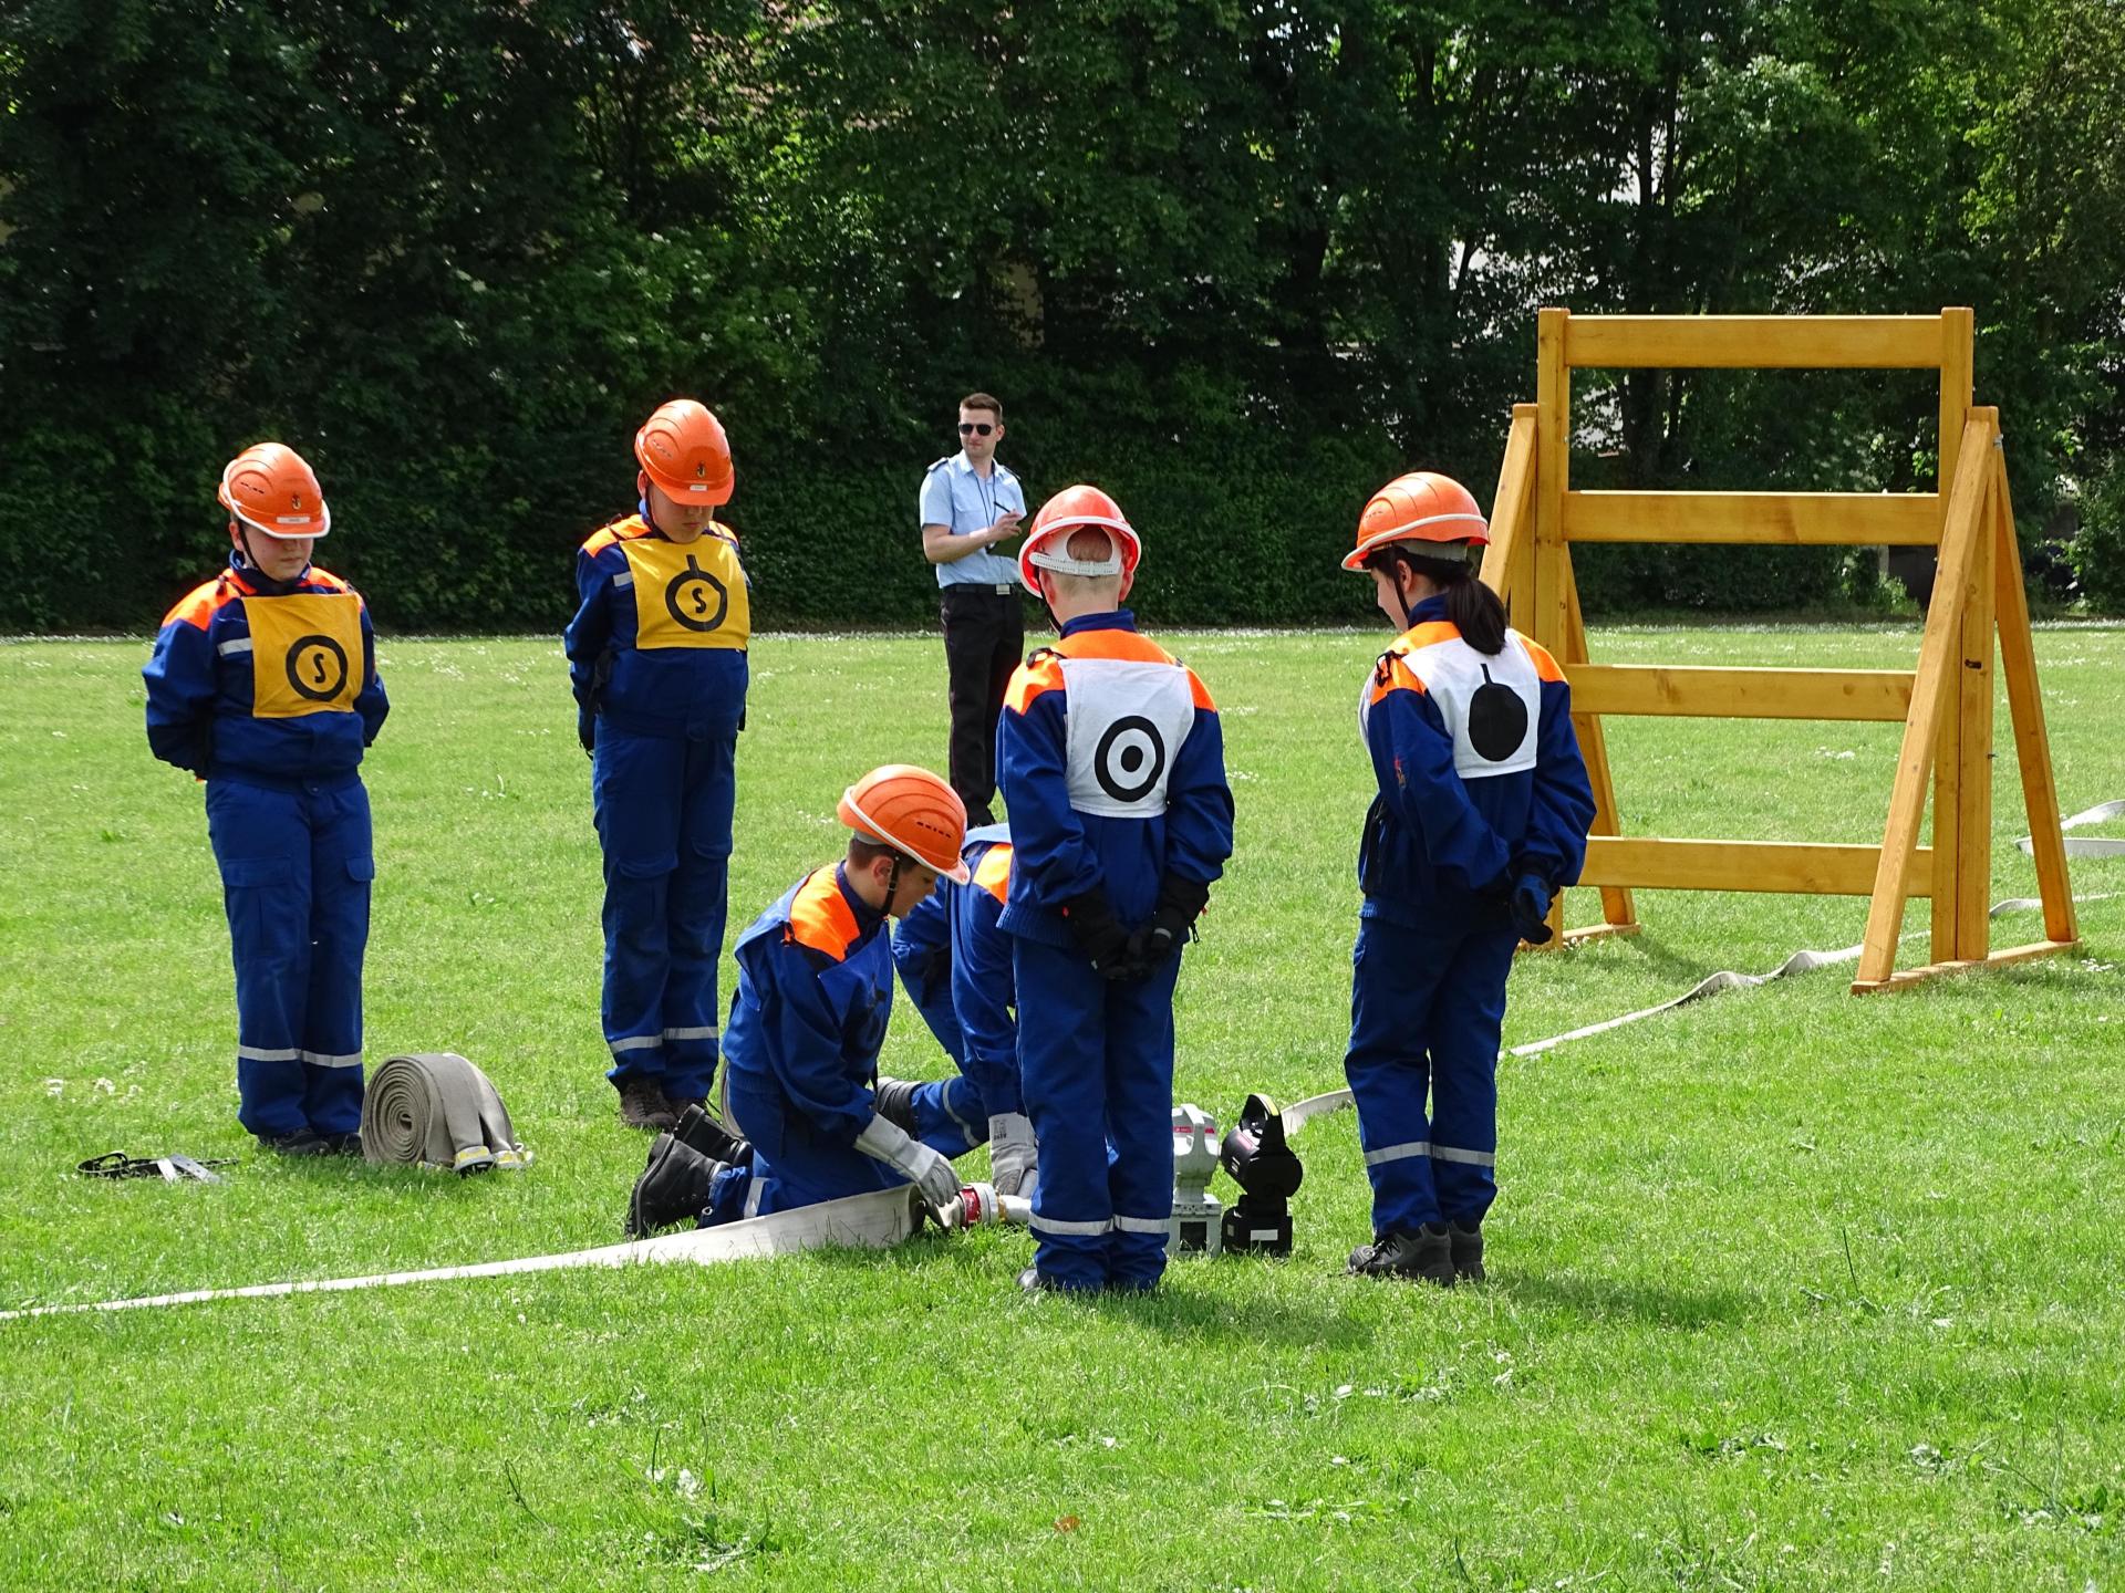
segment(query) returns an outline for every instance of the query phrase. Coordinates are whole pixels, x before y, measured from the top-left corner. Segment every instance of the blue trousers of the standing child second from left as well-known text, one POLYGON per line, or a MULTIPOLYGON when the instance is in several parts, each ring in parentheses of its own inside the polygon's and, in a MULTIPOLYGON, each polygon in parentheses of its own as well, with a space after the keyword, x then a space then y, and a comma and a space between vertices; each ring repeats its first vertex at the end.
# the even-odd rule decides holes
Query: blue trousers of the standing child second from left
POLYGON ((591 792, 606 852, 601 1017, 614 1087, 648 1077, 699 1100, 716 1077, 716 960, 731 881, 737 729, 597 729, 591 792))

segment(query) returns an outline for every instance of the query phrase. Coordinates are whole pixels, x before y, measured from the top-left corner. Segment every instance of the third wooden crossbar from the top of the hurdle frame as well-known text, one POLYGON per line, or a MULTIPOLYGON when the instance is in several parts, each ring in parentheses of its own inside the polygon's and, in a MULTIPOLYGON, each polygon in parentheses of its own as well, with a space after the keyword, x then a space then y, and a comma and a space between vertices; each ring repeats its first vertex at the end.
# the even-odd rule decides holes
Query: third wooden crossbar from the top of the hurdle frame
POLYGON ((1910 714, 1910 669, 1564 665, 1572 709, 1726 720, 1881 720, 1910 714))

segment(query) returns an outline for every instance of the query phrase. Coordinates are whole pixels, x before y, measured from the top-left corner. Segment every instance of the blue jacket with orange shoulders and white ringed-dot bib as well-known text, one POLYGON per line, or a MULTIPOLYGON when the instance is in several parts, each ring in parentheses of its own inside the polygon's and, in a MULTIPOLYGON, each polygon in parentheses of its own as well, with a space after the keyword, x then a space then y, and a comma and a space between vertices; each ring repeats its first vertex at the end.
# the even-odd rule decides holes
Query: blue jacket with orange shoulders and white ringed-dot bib
POLYGON ((1077 616, 1018 667, 997 752, 1007 935, 1069 945, 1060 909, 1094 886, 1124 926, 1141 924, 1167 871, 1207 886, 1232 856, 1218 705, 1128 610, 1077 616))

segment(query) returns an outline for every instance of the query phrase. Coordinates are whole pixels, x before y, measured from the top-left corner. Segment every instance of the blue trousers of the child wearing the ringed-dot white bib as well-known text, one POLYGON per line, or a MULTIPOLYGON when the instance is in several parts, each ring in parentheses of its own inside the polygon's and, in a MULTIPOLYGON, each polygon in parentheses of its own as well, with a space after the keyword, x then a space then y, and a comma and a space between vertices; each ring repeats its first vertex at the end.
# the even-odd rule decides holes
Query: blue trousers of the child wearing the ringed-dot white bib
POLYGON ((1039 1138, 1033 1264, 1067 1289, 1150 1287, 1173 1217, 1173 983, 1103 979, 1075 947, 1014 937, 1018 1068, 1039 1138))

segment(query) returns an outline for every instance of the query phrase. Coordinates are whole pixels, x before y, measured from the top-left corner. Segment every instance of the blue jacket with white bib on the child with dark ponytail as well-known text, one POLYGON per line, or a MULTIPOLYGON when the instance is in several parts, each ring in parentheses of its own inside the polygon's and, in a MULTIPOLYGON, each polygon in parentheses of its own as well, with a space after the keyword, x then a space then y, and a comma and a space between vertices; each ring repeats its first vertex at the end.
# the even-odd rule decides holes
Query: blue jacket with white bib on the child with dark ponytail
POLYGON ((1415 928, 1502 901, 1522 873, 1551 890, 1572 884, 1594 822, 1564 671, 1517 633, 1504 654, 1479 654, 1445 612, 1443 597, 1411 610, 1360 714, 1379 782, 1358 850, 1364 915, 1415 928), (1477 705, 1483 692, 1513 695, 1494 673, 1522 707, 1477 705))

